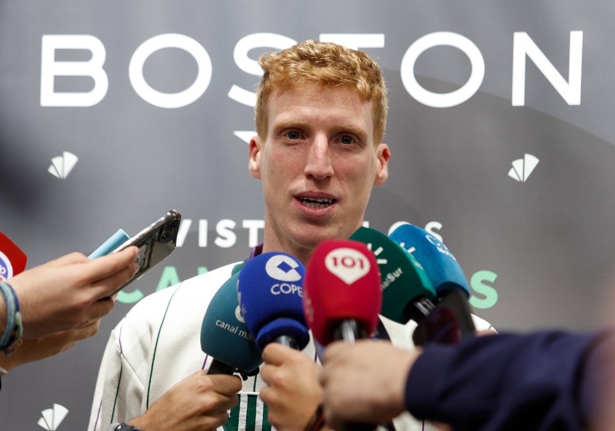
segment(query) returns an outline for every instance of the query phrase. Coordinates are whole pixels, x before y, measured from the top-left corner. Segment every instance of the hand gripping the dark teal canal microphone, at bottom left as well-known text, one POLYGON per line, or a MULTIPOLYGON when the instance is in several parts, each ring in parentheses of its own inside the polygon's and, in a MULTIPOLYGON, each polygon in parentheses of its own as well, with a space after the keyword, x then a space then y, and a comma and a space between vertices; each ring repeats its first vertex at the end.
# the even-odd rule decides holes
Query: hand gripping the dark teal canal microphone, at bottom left
POLYGON ((146 431, 207 431, 228 421, 227 410, 239 402, 241 379, 197 371, 173 385, 141 416, 129 422, 146 431))

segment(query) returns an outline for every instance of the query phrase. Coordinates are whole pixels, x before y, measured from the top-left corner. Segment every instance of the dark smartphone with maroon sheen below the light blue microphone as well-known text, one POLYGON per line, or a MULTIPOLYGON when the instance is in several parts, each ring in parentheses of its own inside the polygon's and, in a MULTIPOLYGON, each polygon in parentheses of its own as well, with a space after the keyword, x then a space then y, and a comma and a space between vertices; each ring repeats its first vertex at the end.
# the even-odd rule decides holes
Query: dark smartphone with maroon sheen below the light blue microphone
POLYGON ((467 297, 454 289, 440 298, 434 310, 418 323, 412 340, 415 345, 458 344, 461 339, 473 337, 475 331, 467 297))

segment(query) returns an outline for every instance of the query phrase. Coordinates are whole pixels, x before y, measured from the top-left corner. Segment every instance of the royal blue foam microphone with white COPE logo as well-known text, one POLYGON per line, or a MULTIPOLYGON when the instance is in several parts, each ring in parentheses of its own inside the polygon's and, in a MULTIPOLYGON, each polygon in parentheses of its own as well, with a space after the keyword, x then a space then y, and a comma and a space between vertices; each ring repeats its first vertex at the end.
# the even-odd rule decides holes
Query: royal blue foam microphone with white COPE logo
POLYGON ((268 252, 239 272, 237 300, 259 350, 270 342, 303 350, 309 329, 303 315, 303 264, 290 254, 268 252))

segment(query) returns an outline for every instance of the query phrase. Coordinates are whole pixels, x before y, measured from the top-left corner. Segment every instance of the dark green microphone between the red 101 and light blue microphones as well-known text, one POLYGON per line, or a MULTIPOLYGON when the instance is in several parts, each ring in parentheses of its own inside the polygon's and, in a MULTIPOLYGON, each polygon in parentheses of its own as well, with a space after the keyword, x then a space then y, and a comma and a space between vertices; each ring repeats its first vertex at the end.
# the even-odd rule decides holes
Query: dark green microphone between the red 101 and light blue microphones
POLYGON ((405 324, 416 322, 434 310, 435 289, 423 266, 399 244, 378 230, 360 227, 351 240, 367 244, 380 268, 386 318, 405 324))

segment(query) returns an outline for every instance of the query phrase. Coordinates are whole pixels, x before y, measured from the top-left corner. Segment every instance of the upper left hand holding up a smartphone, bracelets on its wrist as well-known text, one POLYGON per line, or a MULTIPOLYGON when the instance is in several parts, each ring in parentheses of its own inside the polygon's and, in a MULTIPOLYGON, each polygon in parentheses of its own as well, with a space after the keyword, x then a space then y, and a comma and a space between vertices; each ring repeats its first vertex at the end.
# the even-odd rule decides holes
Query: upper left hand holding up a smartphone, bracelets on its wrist
POLYGON ((23 338, 83 328, 109 313, 109 295, 136 272, 137 254, 134 246, 97 259, 74 252, 7 280, 19 300, 23 338))

